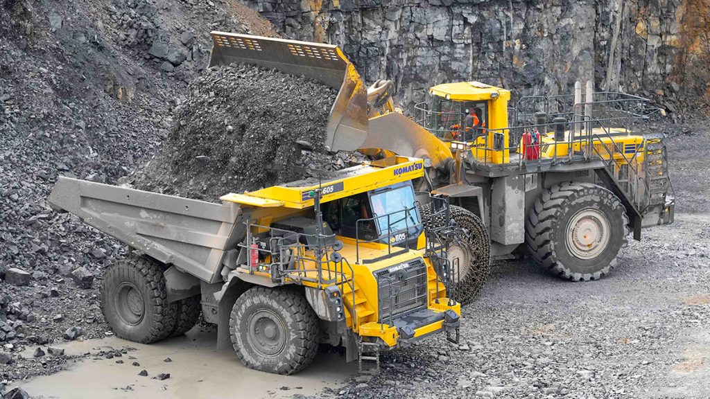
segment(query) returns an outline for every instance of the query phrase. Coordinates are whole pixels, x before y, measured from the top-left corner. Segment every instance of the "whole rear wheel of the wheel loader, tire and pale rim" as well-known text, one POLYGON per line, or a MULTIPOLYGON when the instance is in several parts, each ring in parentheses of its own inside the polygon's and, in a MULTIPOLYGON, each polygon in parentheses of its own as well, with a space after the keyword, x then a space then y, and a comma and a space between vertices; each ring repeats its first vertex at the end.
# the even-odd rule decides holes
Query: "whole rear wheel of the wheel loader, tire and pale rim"
POLYGON ((628 232, 618 197, 586 182, 543 191, 525 220, 525 243, 535 263, 574 281, 609 273, 626 248, 628 232))

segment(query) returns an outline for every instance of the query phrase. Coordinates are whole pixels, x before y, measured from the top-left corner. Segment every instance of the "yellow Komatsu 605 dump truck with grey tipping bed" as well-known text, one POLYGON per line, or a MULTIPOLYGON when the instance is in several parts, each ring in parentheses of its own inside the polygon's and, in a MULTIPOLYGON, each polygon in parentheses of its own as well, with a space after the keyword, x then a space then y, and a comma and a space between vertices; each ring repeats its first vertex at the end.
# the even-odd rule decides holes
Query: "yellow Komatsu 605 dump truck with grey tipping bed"
MULTIPOLYGON (((368 371, 430 334, 458 341, 447 250, 461 232, 422 224, 423 173, 422 160, 391 157, 221 204, 60 177, 49 201, 131 248, 102 280, 118 337, 183 334, 202 310, 251 368, 300 371, 327 342, 368 371)), ((447 220, 447 198, 431 204, 447 220)))

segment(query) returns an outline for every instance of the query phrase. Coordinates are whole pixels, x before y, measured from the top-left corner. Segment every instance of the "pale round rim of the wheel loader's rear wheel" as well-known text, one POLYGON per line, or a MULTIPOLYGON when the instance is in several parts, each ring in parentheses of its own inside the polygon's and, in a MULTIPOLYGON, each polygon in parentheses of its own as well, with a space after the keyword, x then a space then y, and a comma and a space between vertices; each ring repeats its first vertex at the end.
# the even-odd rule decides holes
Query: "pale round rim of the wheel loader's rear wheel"
POLYGON ((596 209, 582 209, 567 223, 567 251, 580 259, 599 256, 609 244, 609 220, 596 209))

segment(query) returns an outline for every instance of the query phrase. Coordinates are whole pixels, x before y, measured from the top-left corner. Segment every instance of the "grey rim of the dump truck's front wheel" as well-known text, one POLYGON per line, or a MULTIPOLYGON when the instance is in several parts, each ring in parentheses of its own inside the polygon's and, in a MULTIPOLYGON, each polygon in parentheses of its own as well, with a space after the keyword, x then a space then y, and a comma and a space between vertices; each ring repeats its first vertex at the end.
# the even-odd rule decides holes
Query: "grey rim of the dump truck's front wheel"
POLYGON ((286 327, 271 310, 259 310, 249 317, 249 344, 262 356, 275 357, 286 346, 286 327))

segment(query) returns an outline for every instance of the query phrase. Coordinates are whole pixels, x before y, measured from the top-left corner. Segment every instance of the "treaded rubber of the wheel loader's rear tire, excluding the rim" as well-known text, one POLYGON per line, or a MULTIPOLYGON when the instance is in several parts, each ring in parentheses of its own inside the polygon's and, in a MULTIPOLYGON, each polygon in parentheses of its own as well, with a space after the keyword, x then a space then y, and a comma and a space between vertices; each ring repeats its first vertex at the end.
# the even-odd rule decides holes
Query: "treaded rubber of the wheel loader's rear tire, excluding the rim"
POLYGON ((535 263, 573 281, 598 280, 616 266, 628 241, 628 217, 621 201, 604 187, 563 182, 535 200, 525 220, 525 243, 535 263), (584 259, 567 248, 567 225, 584 209, 596 209, 609 223, 609 241, 601 253, 584 259))

